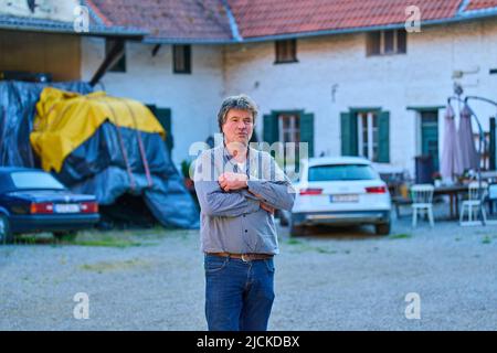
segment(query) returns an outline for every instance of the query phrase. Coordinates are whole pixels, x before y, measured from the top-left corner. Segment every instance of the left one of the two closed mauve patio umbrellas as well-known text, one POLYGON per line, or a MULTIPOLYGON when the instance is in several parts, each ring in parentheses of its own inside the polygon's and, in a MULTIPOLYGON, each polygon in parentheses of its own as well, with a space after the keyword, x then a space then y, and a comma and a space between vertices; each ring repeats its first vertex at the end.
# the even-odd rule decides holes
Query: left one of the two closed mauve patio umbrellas
POLYGON ((441 174, 442 178, 450 180, 452 180, 454 175, 462 174, 464 171, 454 117, 454 109, 451 105, 447 105, 447 109, 445 110, 445 133, 441 160, 441 174))

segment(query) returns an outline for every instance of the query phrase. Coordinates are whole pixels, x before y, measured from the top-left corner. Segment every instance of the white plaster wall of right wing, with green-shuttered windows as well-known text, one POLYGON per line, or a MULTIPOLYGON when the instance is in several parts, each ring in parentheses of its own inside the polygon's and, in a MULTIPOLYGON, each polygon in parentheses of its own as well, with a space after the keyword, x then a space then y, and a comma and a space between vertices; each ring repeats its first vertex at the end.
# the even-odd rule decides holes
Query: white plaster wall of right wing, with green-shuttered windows
MULTIPOLYGON (((391 164, 413 172, 417 114, 406 107, 444 106, 453 93, 453 71, 478 67, 461 79, 465 93, 497 99, 497 75, 489 75, 489 68, 497 68, 496 43, 496 21, 478 21, 422 28, 421 33, 409 34, 403 55, 368 57, 363 33, 298 40, 295 64, 273 64, 273 42, 232 45, 225 53, 225 89, 251 95, 262 114, 314 113, 315 154, 340 154, 341 111, 382 107, 390 111, 391 164), (335 100, 334 85, 338 85, 335 100)), ((496 109, 473 107, 487 127, 496 109)), ((441 153, 443 116, 444 109, 440 110, 441 153)), ((262 133, 262 121, 257 129, 262 133)))

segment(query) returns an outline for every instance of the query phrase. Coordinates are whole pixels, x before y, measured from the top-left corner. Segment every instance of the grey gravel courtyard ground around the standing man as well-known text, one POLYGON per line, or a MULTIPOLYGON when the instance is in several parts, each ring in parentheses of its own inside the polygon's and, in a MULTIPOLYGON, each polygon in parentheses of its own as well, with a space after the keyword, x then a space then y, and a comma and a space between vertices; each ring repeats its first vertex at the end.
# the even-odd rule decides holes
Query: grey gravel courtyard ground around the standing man
MULTIPOLYGON (((281 227, 269 330, 496 330, 497 226, 281 227), (408 319, 408 293, 420 319, 408 319)), ((195 231, 86 233, 0 246, 0 330, 205 330, 195 231), (89 318, 75 319, 74 296, 89 318)))

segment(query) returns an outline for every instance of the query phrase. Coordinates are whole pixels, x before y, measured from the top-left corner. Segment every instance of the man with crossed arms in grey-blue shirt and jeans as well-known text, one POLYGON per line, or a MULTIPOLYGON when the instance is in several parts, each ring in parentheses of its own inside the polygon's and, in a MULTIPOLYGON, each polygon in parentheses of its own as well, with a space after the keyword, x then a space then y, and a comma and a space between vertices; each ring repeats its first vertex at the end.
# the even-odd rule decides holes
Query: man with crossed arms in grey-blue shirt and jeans
POLYGON ((205 268, 205 318, 211 331, 265 331, 274 300, 274 212, 295 194, 269 153, 248 147, 257 107, 245 95, 218 114, 224 143, 197 160, 205 268))

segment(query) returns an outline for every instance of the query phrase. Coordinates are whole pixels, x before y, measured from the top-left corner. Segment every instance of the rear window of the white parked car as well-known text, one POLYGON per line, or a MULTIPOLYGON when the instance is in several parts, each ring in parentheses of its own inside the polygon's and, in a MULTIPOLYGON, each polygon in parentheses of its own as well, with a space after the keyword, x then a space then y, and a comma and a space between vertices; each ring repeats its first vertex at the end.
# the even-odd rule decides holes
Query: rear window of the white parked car
POLYGON ((332 164, 309 168, 309 181, 374 180, 377 174, 368 164, 332 164))

